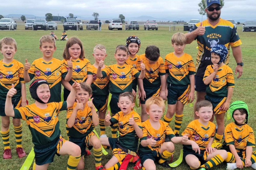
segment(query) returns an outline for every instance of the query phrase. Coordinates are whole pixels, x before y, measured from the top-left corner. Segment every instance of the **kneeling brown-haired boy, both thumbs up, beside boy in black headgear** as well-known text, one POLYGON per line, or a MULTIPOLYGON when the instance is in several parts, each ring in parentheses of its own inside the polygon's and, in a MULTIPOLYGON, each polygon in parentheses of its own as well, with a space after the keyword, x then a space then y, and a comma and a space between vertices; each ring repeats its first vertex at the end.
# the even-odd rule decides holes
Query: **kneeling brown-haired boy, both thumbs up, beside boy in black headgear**
MULTIPOLYGON (((85 82, 80 82, 81 89, 77 90, 76 102, 70 108, 67 113, 67 135, 69 141, 80 146, 81 157, 87 154, 86 147, 92 149, 95 156, 95 168, 96 170, 104 170, 101 165, 102 148, 100 140, 92 131, 93 126, 99 124, 99 117, 96 113, 93 105, 94 98, 89 101, 92 96, 92 88, 85 82)), ((84 169, 84 158, 80 159, 77 169, 84 169)))

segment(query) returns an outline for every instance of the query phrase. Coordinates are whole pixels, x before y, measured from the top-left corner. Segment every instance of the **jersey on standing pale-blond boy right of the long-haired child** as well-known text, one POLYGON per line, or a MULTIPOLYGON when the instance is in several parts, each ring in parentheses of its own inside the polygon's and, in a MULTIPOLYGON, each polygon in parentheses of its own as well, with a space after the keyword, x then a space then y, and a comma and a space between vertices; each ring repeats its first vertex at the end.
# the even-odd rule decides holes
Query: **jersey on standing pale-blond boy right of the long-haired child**
MULTIPOLYGON (((105 65, 105 68, 107 66, 105 65)), ((93 95, 109 95, 109 76, 98 78, 97 77, 97 68, 92 65, 92 94, 93 95)))

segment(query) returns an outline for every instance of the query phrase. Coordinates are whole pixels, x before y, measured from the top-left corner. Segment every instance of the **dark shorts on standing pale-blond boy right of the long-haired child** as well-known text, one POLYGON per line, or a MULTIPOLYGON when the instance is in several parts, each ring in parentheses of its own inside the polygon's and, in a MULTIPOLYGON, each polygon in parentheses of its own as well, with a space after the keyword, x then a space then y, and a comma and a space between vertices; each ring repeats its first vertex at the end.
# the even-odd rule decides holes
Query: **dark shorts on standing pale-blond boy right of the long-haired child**
POLYGON ((106 112, 108 109, 108 95, 92 95, 93 104, 98 111, 106 112))

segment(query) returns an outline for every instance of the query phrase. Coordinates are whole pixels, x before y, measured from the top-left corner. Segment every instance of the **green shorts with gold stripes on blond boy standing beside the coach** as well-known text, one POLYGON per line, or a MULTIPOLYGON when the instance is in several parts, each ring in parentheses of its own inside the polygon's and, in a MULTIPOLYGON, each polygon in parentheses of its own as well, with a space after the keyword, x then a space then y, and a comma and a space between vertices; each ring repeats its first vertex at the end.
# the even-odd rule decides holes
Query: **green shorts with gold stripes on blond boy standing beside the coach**
POLYGON ((181 101, 183 104, 188 102, 188 96, 190 93, 190 85, 175 85, 168 83, 167 85, 168 95, 167 103, 176 104, 177 100, 181 101))

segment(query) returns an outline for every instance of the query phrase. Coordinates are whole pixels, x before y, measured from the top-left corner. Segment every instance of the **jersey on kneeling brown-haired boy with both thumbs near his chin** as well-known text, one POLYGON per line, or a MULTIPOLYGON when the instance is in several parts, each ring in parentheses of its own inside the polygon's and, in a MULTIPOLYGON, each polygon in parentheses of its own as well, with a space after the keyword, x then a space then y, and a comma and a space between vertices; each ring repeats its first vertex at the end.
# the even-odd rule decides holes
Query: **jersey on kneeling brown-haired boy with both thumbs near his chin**
MULTIPOLYGON (((71 114, 73 113, 74 108, 77 106, 77 102, 74 102, 74 105, 68 108, 67 113, 67 121, 71 114)), ((74 122, 74 125, 69 128, 66 123, 67 135, 74 138, 82 138, 87 136, 90 132, 92 132, 92 112, 91 108, 87 106, 84 107, 83 110, 77 111, 77 116, 74 122)))

